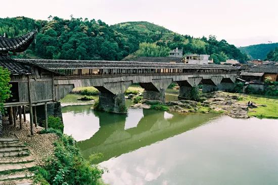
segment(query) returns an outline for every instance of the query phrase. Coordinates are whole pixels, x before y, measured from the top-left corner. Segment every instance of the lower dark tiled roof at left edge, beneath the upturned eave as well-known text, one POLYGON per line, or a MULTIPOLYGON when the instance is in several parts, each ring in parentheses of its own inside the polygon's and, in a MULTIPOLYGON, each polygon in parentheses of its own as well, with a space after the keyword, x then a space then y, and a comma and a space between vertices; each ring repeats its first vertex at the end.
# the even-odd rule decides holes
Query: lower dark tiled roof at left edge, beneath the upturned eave
POLYGON ((0 67, 8 69, 12 75, 31 74, 29 66, 26 66, 9 56, 0 55, 0 67))

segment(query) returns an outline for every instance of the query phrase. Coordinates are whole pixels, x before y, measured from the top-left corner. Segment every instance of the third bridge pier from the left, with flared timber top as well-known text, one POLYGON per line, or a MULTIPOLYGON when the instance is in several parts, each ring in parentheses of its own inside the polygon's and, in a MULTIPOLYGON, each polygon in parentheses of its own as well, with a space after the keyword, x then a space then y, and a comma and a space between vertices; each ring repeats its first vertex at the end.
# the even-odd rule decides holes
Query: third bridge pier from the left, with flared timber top
POLYGON ((188 80, 176 81, 179 85, 178 99, 192 99, 191 91, 202 81, 202 77, 188 78, 188 80))

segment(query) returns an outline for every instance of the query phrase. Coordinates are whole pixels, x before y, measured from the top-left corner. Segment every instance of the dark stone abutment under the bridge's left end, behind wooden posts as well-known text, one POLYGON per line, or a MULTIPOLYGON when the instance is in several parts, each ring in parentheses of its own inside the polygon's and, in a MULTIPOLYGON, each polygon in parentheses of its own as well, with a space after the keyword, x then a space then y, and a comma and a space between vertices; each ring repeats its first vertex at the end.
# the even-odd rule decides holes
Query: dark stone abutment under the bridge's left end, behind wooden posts
MULTIPOLYGON (((44 127, 44 120, 45 120, 45 115, 44 115, 44 105, 38 105, 36 106, 36 112, 37 112, 37 122, 38 125, 41 127, 44 127)), ((61 110, 61 103, 51 103, 48 104, 48 117, 49 116, 54 116, 54 117, 60 117, 61 121, 63 122, 63 116, 62 116, 62 110, 61 110)))

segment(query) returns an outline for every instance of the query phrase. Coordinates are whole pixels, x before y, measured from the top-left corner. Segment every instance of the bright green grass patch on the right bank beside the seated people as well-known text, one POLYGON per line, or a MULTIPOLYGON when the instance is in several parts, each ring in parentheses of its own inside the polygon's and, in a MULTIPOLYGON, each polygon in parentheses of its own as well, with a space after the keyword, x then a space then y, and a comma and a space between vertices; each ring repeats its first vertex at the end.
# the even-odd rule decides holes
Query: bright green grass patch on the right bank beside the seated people
POLYGON ((249 116, 255 116, 258 118, 278 118, 278 97, 277 96, 266 96, 266 95, 248 95, 243 97, 241 102, 245 102, 246 105, 248 101, 253 101, 257 108, 252 108, 248 111, 249 116), (266 105, 266 106, 261 106, 266 105))

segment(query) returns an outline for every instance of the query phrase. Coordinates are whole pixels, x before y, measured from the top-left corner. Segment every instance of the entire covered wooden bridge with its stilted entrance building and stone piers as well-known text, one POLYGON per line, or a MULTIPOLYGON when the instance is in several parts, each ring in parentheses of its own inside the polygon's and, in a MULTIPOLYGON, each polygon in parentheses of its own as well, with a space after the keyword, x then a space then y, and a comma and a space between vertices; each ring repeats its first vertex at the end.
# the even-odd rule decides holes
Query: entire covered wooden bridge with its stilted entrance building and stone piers
POLYGON ((8 51, 24 51, 35 34, 36 30, 22 38, 0 37, 0 67, 11 72, 13 95, 4 106, 13 107, 9 108, 11 124, 17 118, 16 109, 21 120, 22 106, 33 107, 30 108, 31 134, 33 123, 37 124, 38 121, 45 122, 47 128, 49 106, 64 98, 74 87, 96 87, 100 91, 100 107, 121 112, 125 104, 123 93, 132 83, 139 83, 145 89, 145 99, 165 101, 165 89, 172 82, 180 86, 179 98, 189 98, 190 90, 199 84, 203 85, 203 91, 233 88, 238 74, 238 68, 220 65, 13 59, 9 56, 8 51))

